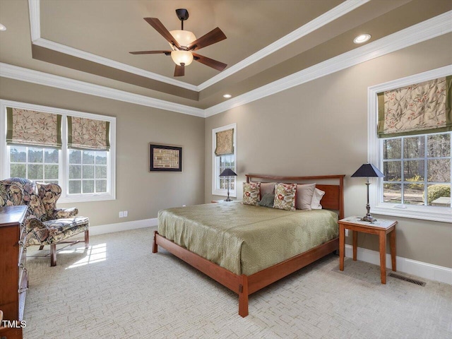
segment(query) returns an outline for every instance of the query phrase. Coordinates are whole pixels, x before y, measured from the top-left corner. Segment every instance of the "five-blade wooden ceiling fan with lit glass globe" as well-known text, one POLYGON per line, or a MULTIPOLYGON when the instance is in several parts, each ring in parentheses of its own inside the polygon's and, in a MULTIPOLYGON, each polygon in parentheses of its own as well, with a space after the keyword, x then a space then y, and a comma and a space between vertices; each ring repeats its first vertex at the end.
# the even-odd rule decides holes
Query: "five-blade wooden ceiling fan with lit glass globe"
POLYGON ((202 55, 194 53, 194 51, 207 47, 210 44, 215 44, 221 40, 226 39, 225 33, 220 30, 220 28, 215 28, 211 30, 206 35, 196 39, 193 32, 189 30, 184 30, 184 20, 189 18, 189 11, 185 8, 179 8, 176 10, 177 18, 181 20, 182 29, 168 31, 165 26, 157 18, 144 18, 149 25, 153 26, 157 32, 165 37, 171 50, 168 51, 141 51, 141 52, 129 52, 131 54, 165 54, 171 55, 172 60, 176 64, 176 69, 174 69, 174 76, 184 76, 185 66, 189 66, 192 61, 201 62, 206 66, 212 67, 218 71, 225 69, 227 64, 223 64, 220 61, 210 59, 208 57, 203 57, 202 55))

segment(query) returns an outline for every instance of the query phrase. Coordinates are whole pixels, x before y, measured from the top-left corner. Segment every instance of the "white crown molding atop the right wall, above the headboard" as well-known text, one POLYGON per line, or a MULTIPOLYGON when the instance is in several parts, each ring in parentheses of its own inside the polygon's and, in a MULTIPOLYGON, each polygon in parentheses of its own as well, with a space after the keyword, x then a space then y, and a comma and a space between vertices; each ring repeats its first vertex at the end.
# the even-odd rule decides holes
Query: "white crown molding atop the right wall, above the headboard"
POLYGON ((400 30, 379 40, 366 44, 362 47, 345 52, 307 69, 293 73, 290 76, 281 78, 273 83, 268 83, 260 88, 251 90, 237 97, 234 97, 218 105, 205 109, 206 117, 232 109, 234 107, 245 105, 249 102, 273 95, 275 93, 287 90, 297 85, 302 85, 309 81, 328 74, 341 71, 351 66, 361 64, 385 54, 396 52, 399 49, 418 44, 420 42, 433 39, 440 35, 452 32, 452 11, 448 11, 432 19, 425 20, 422 23, 412 25, 409 28, 400 30))

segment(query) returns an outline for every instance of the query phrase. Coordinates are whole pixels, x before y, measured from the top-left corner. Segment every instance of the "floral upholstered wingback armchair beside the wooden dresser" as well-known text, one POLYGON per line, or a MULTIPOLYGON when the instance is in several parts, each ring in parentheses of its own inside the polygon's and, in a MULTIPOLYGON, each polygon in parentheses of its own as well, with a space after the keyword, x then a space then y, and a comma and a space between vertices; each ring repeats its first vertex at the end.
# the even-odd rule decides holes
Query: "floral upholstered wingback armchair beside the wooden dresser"
POLYGON ((23 178, 0 180, 0 206, 28 206, 25 218, 26 246, 50 245, 50 266, 57 265, 57 244, 85 232, 89 245, 88 218, 78 217, 77 208, 56 208, 61 195, 57 184, 39 184, 23 178))

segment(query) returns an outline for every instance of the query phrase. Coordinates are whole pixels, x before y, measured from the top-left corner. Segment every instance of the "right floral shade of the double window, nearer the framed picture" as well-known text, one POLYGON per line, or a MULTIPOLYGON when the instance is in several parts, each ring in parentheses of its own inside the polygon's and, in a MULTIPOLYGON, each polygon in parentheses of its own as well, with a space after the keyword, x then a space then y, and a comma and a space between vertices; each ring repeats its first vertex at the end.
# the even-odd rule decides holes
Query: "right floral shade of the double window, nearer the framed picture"
POLYGON ((68 117, 68 148, 109 150, 109 121, 68 117))

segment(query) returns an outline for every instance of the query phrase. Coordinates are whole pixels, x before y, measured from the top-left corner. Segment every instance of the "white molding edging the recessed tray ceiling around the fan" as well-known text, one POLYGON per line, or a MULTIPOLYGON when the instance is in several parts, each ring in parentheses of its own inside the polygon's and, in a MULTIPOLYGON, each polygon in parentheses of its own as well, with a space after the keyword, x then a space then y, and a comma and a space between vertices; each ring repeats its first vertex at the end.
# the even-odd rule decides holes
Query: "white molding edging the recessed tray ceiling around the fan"
POLYGON ((126 71, 129 73, 137 74, 138 76, 144 76, 145 78, 150 78, 156 81, 161 81, 162 83, 168 83, 169 85, 175 85, 180 88, 185 88, 187 90, 194 90, 196 92, 200 92, 201 90, 205 90, 209 86, 222 81, 228 76, 232 76, 232 74, 241 71, 242 69, 254 64, 256 61, 263 59, 264 57, 272 54, 278 49, 281 49, 287 44, 290 44, 301 37, 313 32, 321 28, 323 25, 330 23, 331 21, 340 18, 350 11, 355 10, 359 6, 362 6, 369 2, 370 0, 346 0, 342 4, 335 6, 330 11, 323 13, 321 16, 311 20, 306 25, 303 25, 297 30, 290 32, 285 37, 280 38, 269 44, 267 47, 261 49, 260 51, 252 54, 250 57, 240 61, 234 66, 231 66, 229 69, 222 71, 218 75, 210 78, 208 81, 201 83, 201 85, 191 85, 190 83, 185 83, 184 81, 179 81, 174 78, 169 78, 167 76, 161 76, 160 74, 153 73, 150 71, 145 71, 144 69, 139 69, 138 67, 130 66, 128 64, 123 64, 119 61, 114 61, 112 59, 107 59, 105 57, 100 57, 96 54, 88 53, 81 51, 80 49, 76 49, 73 47, 66 46, 64 44, 59 44, 58 42, 53 42, 50 40, 46 40, 41 37, 41 18, 40 18, 40 0, 28 0, 28 8, 30 9, 30 34, 31 40, 33 44, 37 46, 44 47, 47 49, 52 49, 56 52, 64 53, 71 55, 73 57, 85 59, 88 61, 93 61, 97 64, 102 64, 104 66, 112 67, 114 69, 120 69, 121 71, 126 71))

